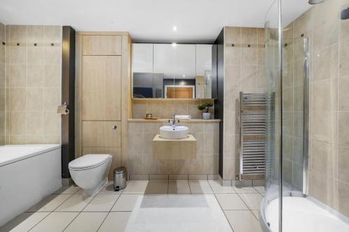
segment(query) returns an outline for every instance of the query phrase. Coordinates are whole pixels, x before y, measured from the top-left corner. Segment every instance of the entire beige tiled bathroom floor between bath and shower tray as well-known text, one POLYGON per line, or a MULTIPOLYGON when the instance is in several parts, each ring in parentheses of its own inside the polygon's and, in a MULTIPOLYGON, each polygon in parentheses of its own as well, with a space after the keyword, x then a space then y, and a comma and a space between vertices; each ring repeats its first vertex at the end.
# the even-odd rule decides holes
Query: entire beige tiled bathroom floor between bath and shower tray
POLYGON ((66 187, 31 207, 3 231, 261 231, 263 187, 222 187, 209 181, 131 181, 95 196, 66 187))

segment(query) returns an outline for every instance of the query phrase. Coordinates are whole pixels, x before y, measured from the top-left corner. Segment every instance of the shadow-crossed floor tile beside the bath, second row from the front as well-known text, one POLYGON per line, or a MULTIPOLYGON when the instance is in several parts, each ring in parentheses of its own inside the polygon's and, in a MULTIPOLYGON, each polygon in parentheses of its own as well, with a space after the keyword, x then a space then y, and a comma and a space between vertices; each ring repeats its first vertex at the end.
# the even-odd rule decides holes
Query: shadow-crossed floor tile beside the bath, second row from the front
POLYGON ((27 212, 51 212, 55 210, 61 203, 64 203, 72 194, 51 194, 43 201, 29 208, 27 212))

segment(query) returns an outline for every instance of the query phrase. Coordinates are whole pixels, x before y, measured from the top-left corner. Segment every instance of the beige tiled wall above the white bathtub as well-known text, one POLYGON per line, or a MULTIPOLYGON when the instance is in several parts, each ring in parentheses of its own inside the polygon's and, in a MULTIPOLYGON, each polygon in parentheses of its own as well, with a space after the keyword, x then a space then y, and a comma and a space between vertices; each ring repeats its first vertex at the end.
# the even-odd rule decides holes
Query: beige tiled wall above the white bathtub
POLYGON ((5 143, 60 144, 61 26, 7 25, 4 31, 5 143))

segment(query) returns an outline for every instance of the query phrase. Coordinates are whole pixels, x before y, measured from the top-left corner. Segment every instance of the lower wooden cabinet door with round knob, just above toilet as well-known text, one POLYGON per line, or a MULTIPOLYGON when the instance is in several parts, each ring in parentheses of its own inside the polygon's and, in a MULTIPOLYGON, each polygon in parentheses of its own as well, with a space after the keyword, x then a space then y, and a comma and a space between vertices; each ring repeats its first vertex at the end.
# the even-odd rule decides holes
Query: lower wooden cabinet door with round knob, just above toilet
POLYGON ((120 147, 121 122, 82 121, 82 146, 120 147))

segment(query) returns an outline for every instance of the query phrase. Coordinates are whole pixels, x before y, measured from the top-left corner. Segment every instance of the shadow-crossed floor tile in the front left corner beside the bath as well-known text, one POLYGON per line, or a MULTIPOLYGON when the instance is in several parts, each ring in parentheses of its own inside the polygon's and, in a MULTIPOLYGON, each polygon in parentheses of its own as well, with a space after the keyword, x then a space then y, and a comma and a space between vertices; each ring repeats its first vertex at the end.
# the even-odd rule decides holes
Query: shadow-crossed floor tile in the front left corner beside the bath
POLYGON ((50 212, 24 212, 21 215, 15 217, 7 224, 0 227, 0 232, 22 232, 29 231, 33 226, 38 224, 44 219, 50 212))

